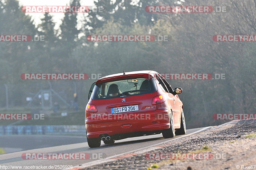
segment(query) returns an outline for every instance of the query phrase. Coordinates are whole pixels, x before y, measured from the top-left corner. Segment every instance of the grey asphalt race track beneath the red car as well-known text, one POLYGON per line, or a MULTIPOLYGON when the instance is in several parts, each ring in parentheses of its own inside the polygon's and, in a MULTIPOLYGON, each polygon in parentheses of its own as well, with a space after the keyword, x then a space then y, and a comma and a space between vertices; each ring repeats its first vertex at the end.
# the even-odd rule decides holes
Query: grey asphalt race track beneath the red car
MULTIPOLYGON (((196 132, 203 128, 196 129, 187 129, 187 134, 196 132)), ((187 135, 186 134, 186 135, 187 135)), ((99 148, 89 148, 87 142, 78 143, 78 141, 86 141, 85 137, 38 137, 38 136, 2 136, 1 144, 5 143, 6 140, 12 139, 12 143, 10 145, 5 145, 5 147, 13 147, 22 148, 23 151, 5 153, 0 155, 0 165, 3 166, 54 166, 54 165, 69 165, 76 166, 84 163, 89 163, 99 159, 87 159, 87 160, 24 160, 22 159, 22 153, 89 153, 90 158, 92 154, 97 154, 97 156, 101 156, 102 158, 112 157, 115 155, 119 155, 125 152, 137 150, 140 148, 144 148, 146 146, 158 144, 164 141, 168 141, 170 139, 175 139, 177 137, 181 137, 182 135, 175 136, 174 138, 164 139, 162 134, 151 135, 151 136, 143 136, 143 137, 133 137, 116 141, 114 144, 104 144, 101 141, 101 146, 99 148), (40 141, 38 142, 38 139, 40 141), (64 141, 65 140, 65 141, 64 141), (2 142, 5 141, 5 142, 2 142), (68 144, 72 143, 73 144, 68 144), (75 144, 74 144, 75 143, 75 144), (58 145, 59 146, 56 146, 58 145), (52 146, 52 147, 45 147, 52 146), (44 148, 41 148, 44 147, 44 148), (26 150, 30 148, 30 150, 26 150), (38 149, 34 149, 38 148, 38 149), (26 150, 26 151, 25 151, 26 150)), ((8 142, 9 143, 9 142, 8 142)), ((2 147, 2 146, 1 146, 2 147)), ((1 167, 0 166, 0 167, 1 167)), ((1 168, 0 168, 1 169, 1 168)))

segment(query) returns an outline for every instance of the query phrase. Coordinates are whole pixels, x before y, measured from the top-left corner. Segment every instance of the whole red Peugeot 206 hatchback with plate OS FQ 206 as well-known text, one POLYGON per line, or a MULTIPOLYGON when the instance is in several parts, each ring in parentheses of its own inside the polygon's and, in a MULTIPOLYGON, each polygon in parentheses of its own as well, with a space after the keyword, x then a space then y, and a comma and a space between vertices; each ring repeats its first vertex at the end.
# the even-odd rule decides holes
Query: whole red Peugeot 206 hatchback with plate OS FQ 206
POLYGON ((171 85, 155 71, 113 74, 94 82, 85 109, 89 147, 128 137, 186 133, 183 104, 171 85))

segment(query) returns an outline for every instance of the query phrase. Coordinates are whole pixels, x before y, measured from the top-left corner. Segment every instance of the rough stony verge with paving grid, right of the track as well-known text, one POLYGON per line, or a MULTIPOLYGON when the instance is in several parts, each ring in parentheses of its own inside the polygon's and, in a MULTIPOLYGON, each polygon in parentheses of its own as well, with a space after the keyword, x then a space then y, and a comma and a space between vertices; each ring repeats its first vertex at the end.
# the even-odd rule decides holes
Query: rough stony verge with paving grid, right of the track
MULTIPOLYGON (((184 154, 183 154, 184 155, 184 154)), ((202 132, 176 139, 143 152, 130 153, 111 161, 77 169, 148 170, 256 170, 256 120, 236 120, 202 132), (207 159, 149 159, 149 154, 206 153, 207 159), (254 166, 255 165, 255 166, 254 166), (250 166, 250 168, 249 168, 250 166)))

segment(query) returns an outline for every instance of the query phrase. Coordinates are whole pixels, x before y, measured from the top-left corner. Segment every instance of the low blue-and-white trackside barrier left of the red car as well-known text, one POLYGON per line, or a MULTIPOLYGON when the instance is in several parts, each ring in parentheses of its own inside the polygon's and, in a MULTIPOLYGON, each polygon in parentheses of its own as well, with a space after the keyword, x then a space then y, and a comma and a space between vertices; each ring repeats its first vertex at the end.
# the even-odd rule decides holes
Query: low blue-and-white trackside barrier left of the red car
POLYGON ((83 125, 0 126, 0 135, 86 135, 83 125))

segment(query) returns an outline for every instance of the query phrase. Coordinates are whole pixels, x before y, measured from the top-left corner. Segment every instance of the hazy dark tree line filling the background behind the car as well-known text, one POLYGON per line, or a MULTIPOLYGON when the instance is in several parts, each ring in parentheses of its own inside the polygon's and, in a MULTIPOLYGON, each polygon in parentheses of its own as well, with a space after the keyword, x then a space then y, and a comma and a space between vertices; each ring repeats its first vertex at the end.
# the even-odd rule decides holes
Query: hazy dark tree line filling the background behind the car
MULTIPOLYGON (((134 70, 160 73, 225 73, 225 80, 168 80, 180 86, 189 127, 216 125, 214 113, 254 113, 255 42, 215 42, 216 34, 255 34, 255 2, 233 0, 95 1, 103 12, 65 13, 55 30, 51 13, 37 27, 18 1, 0 1, 0 34, 44 35, 44 42, 0 42, 1 84, 29 84, 25 72, 84 72, 103 75, 134 70), (229 6, 226 13, 147 13, 149 5, 229 6), (168 42, 88 42, 89 34, 170 35, 168 42)), ((79 0, 70 2, 79 6, 79 0)), ((93 80, 79 83, 80 105, 93 80)), ((68 89, 69 87, 67 87, 68 89)), ((17 94, 18 95, 18 94, 17 94)), ((1 96, 1 100, 4 96, 1 96)), ((15 103, 13 104, 15 105, 15 103)))

